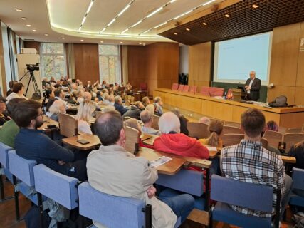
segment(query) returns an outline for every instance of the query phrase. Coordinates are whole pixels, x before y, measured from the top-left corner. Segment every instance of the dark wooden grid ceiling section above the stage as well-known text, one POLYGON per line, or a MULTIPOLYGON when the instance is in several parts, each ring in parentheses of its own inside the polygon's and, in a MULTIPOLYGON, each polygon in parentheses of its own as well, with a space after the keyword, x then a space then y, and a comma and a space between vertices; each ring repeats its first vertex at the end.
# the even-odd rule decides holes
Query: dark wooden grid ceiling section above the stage
POLYGON ((159 35, 194 45, 271 31, 300 21, 304 21, 304 0, 243 0, 159 35))

